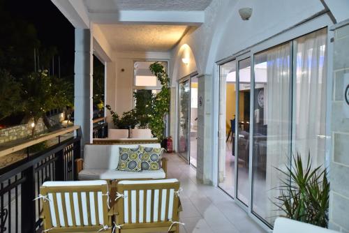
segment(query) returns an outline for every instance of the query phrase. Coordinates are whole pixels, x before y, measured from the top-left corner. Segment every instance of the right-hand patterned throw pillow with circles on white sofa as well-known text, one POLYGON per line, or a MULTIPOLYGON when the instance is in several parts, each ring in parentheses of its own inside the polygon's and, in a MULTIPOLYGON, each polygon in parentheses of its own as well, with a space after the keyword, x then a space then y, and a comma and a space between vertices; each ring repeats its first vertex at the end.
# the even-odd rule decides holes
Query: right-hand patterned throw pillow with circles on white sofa
POLYGON ((163 148, 143 147, 142 170, 159 170, 163 148))

